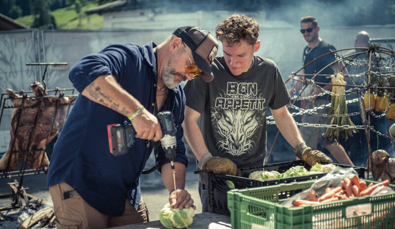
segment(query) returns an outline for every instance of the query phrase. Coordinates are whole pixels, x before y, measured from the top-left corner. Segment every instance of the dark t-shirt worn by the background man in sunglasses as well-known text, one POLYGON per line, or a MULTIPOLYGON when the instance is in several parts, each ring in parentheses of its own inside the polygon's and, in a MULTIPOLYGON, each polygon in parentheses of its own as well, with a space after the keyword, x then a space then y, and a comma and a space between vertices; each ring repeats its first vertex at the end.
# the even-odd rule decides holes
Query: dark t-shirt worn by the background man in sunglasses
MULTIPOLYGON (((330 50, 335 51, 336 48, 331 45, 326 43, 325 41, 320 41, 318 45, 314 48, 310 48, 309 46, 306 46, 305 49, 303 49, 303 66, 305 66, 307 63, 310 61, 314 60, 315 58, 326 54, 330 52, 330 50)), ((331 62, 335 61, 335 55, 334 54, 328 54, 326 56, 323 56, 314 62, 310 63, 308 66, 304 68, 305 74, 316 74, 318 73, 321 69, 325 68, 328 64, 331 62)), ((324 69, 320 74, 333 74, 333 70, 329 67, 324 69)), ((312 78, 313 76, 309 76, 307 78, 312 78)), ((316 76, 314 78, 314 81, 316 82, 322 82, 322 83, 329 83, 331 81, 330 78, 326 78, 325 76, 316 76)), ((323 86, 323 85, 321 85, 323 86)))

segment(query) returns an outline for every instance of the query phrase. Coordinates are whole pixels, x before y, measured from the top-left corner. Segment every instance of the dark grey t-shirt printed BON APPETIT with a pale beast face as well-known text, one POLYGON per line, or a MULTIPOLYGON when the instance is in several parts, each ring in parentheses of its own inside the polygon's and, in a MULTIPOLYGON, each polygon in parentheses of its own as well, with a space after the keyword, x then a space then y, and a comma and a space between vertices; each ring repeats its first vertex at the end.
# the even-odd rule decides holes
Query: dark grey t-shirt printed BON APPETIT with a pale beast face
POLYGON ((234 76, 224 57, 211 65, 214 80, 188 81, 186 105, 201 114, 200 130, 214 156, 237 167, 263 165, 266 155, 266 109, 279 109, 290 96, 276 64, 254 56, 248 72, 234 76))

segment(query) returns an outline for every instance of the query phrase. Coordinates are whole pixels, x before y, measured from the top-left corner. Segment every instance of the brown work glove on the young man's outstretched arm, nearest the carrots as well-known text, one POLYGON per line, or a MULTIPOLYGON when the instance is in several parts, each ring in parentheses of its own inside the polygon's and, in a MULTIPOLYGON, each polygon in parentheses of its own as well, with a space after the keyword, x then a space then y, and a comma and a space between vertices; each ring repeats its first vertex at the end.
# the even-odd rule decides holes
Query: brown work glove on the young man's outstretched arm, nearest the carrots
POLYGON ((312 148, 306 146, 305 142, 299 143, 293 151, 299 159, 306 161, 311 166, 321 162, 333 162, 331 158, 325 155, 325 153, 318 150, 312 150, 312 148))

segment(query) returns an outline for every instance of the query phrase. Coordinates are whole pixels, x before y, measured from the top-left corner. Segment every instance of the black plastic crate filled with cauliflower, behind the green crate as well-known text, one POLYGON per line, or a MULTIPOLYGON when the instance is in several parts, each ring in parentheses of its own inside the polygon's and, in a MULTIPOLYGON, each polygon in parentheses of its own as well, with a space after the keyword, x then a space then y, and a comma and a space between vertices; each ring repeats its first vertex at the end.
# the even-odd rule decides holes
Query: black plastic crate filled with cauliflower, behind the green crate
MULTIPOLYGON (((358 173, 358 177, 365 179, 365 168, 363 167, 336 164, 336 163, 332 163, 332 164, 342 167, 353 167, 358 173)), ((307 164, 305 161, 296 160, 296 161, 281 162, 276 164, 268 164, 263 166, 240 168, 241 177, 208 173, 208 184, 207 184, 208 210, 210 212, 215 212, 223 215, 230 215, 230 212, 228 210, 228 197, 226 193, 230 189, 226 185, 225 183, 226 181, 232 181, 233 184, 235 184, 236 189, 244 189, 244 188, 262 187, 268 185, 276 185, 278 183, 308 181, 311 179, 318 179, 326 175, 326 173, 318 173, 318 174, 307 175, 307 176, 273 179, 266 181, 248 179, 248 175, 253 171, 265 170, 265 171, 277 171, 279 173, 283 173, 288 169, 290 169, 291 167, 298 165, 303 165, 307 170, 310 170, 311 168, 311 166, 307 164)), ((300 191, 301 190, 295 190, 295 193, 300 191)), ((286 195, 286 196, 281 196, 283 198, 292 195, 292 193, 281 193, 281 194, 286 195)))

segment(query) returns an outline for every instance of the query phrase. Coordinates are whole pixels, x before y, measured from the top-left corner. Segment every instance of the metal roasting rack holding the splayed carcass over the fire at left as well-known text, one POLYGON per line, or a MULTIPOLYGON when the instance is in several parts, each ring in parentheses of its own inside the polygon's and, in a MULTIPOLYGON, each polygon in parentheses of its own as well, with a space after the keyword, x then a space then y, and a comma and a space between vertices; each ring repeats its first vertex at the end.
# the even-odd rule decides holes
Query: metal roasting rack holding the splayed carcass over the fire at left
MULTIPOLYGON (((14 138, 12 139, 12 142, 10 142, 9 145, 9 149, 11 149, 10 155, 8 157, 8 161, 7 161, 7 167, 5 170, 0 170, 0 179, 4 179, 4 178, 11 178, 11 177, 20 177, 19 182, 17 182, 16 180, 12 183, 8 183, 8 186, 10 188, 10 193, 7 194, 1 194, 0 198, 4 198, 4 197, 11 197, 11 205, 10 206, 5 206, 5 207, 0 207, 0 211, 2 210, 8 210, 8 209, 14 209, 14 208, 18 208, 24 205, 29 205, 30 204, 30 200, 31 199, 35 199, 36 200, 36 204, 38 202, 40 203, 44 203, 45 201, 40 200, 32 195, 29 195, 26 193, 26 189, 23 188, 22 184, 23 184, 23 179, 25 176, 27 175, 36 175, 36 174, 43 174, 43 173, 47 173, 48 170, 48 166, 47 165, 42 165, 44 156, 45 156, 45 149, 33 149, 33 143, 35 142, 35 136, 36 136, 36 127, 38 126, 38 121, 41 117, 41 115, 43 114, 42 108, 43 108, 43 103, 45 99, 50 99, 50 98, 58 98, 55 104, 55 114, 54 117, 51 121, 50 124, 50 131, 48 132, 48 135, 46 137, 46 141, 45 141, 45 146, 49 143, 49 138, 50 135, 53 131, 54 128, 54 124, 55 124, 55 120, 56 120, 56 115, 57 112, 59 110, 59 108, 61 106, 68 106, 67 107, 67 111, 65 113, 65 118, 68 116, 69 112, 70 112, 70 106, 74 103, 71 102, 69 104, 60 104, 61 98, 67 96, 67 97, 76 97, 77 95, 74 95, 74 88, 65 88, 65 89, 60 89, 60 88, 56 88, 56 89, 51 89, 51 90, 46 90, 46 82, 45 82, 45 73, 47 70, 48 65, 67 65, 67 63, 27 63, 26 65, 44 65, 45 66, 45 70, 44 70, 44 74, 42 76, 42 83, 44 85, 44 91, 47 93, 53 93, 54 95, 43 95, 43 96, 29 96, 33 93, 33 91, 19 91, 16 94, 19 93, 19 95, 21 96, 20 99, 21 101, 21 105, 20 106, 7 106, 7 104, 10 104, 11 98, 8 97, 7 93, 2 93, 1 94, 1 98, 0 98, 0 124, 1 124, 1 120, 4 114, 4 109, 20 109, 18 117, 17 117, 17 124, 16 124, 16 128, 14 130, 14 138), (65 92, 70 93, 70 95, 65 95, 65 92), (34 123, 33 124, 29 124, 32 126, 32 130, 31 130, 31 134, 30 136, 28 136, 28 150, 21 150, 21 151, 13 151, 14 146, 15 146, 15 140, 18 134, 18 129, 20 127, 22 127, 21 123, 20 123, 20 117, 21 114, 23 112, 24 109, 29 109, 30 107, 28 106, 24 106, 26 103, 26 100, 36 100, 38 101, 38 103, 36 103, 34 106, 35 107, 39 107, 39 109, 37 110, 37 113, 35 114, 35 119, 34 119, 34 123), (42 157, 40 159, 40 166, 36 169, 27 169, 26 165, 28 162, 28 156, 30 154, 34 154, 35 152, 38 151, 44 151, 42 153, 42 157), (12 155, 15 153, 24 153, 23 155, 23 160, 21 162, 21 164, 18 166, 19 170, 15 170, 15 171, 8 171, 9 170, 9 166, 10 166, 10 162, 12 159, 12 155), (25 200, 26 203, 22 203, 22 199, 25 200)), ((12 104, 12 103, 11 103, 12 104)), ((45 202, 47 203, 47 202, 45 202)))

